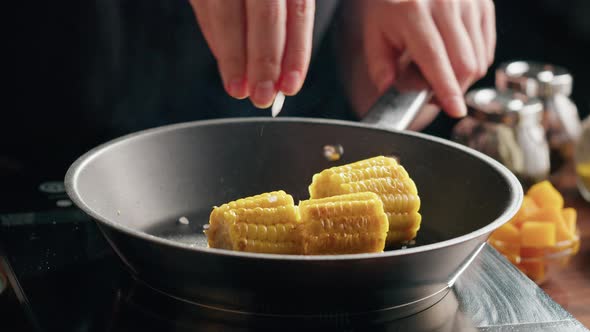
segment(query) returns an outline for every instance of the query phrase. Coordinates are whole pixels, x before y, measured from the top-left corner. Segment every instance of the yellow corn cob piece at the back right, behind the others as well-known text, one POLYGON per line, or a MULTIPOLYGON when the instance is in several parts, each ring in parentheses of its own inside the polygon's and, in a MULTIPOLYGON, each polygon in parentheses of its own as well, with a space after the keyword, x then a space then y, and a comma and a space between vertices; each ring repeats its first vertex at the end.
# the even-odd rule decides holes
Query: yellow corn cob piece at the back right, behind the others
POLYGON ((356 192, 376 193, 389 221, 387 245, 416 237, 422 216, 416 184, 395 159, 378 156, 332 167, 313 176, 312 199, 356 192))

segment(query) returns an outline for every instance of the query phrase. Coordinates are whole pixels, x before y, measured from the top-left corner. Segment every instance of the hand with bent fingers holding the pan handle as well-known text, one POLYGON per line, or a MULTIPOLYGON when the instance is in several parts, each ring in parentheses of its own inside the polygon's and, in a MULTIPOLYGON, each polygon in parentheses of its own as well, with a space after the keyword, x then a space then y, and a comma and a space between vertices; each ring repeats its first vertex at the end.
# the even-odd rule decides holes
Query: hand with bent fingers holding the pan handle
POLYGON ((463 93, 487 72, 496 44, 492 0, 358 1, 368 75, 381 93, 408 56, 453 117, 465 115, 463 93))

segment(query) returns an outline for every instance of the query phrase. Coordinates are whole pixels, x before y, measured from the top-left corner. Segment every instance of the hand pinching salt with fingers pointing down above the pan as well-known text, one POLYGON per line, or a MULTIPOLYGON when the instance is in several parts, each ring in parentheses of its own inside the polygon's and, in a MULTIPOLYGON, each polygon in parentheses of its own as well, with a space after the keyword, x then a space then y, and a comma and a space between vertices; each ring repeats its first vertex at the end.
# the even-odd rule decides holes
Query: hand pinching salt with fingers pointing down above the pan
POLYGON ((269 107, 296 94, 311 57, 315 0, 190 0, 225 90, 269 107))

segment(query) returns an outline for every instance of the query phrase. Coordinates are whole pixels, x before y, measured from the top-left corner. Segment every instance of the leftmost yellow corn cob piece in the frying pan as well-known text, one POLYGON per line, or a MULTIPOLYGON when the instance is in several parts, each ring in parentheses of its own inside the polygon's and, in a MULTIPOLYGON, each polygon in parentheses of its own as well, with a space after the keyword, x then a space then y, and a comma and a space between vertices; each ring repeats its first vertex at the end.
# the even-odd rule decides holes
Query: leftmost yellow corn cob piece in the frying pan
POLYGON ((293 197, 274 191, 215 207, 206 231, 209 247, 301 254, 299 215, 293 197))

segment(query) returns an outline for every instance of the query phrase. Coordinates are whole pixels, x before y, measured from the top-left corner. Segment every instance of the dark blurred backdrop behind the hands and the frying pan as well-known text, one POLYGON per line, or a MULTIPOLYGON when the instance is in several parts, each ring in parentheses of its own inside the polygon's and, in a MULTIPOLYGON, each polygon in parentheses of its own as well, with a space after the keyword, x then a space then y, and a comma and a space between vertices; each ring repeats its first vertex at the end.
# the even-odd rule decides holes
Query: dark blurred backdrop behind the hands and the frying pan
MULTIPOLYGON (((61 178, 87 149, 135 130, 269 113, 223 93, 187 1, 20 1, 5 7, 3 182, 39 170, 61 178)), ((498 0, 496 9, 496 62, 476 87, 492 86, 503 61, 562 65, 574 76, 572 98, 587 116, 588 2, 498 0)), ((283 115, 350 119, 333 54, 322 45, 303 91, 289 99, 283 115)), ((425 131, 448 137, 453 124, 440 116, 425 131)))

